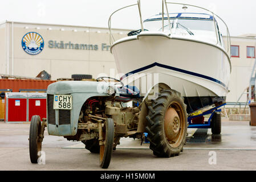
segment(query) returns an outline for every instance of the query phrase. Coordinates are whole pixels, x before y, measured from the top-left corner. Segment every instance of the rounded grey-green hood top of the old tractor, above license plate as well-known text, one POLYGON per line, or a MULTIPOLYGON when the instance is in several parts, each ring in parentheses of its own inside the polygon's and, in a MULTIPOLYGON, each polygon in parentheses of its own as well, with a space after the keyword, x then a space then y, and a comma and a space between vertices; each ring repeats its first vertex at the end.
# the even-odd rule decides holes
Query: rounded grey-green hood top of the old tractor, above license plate
POLYGON ((59 81, 48 86, 47 94, 107 93, 109 85, 115 87, 111 82, 103 81, 59 81))

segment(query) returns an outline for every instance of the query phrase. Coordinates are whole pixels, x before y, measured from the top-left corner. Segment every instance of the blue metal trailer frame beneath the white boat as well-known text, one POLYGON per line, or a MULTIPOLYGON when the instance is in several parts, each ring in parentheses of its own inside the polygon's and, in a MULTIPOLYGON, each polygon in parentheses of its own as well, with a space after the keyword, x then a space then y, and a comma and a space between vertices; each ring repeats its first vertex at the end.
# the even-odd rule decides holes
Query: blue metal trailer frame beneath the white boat
POLYGON ((222 105, 220 105, 220 106, 213 107, 212 109, 207 110, 207 111, 205 111, 205 112, 202 113, 202 114, 189 116, 189 117, 188 117, 188 124, 189 124, 188 128, 190 128, 190 129, 210 129, 210 128, 211 128, 210 122, 211 122, 211 120, 212 120, 213 114, 214 114, 215 112, 221 112, 221 109, 218 109, 218 108, 220 108, 220 107, 222 107, 222 106, 224 106, 224 105, 226 105, 226 103, 225 103, 225 104, 222 104, 222 105), (202 115, 207 115, 207 114, 211 114, 210 117, 209 117, 209 119, 208 119, 208 122, 205 122, 204 124, 193 124, 193 123, 192 123, 192 119, 193 119, 193 118, 197 118, 197 117, 200 117, 200 116, 202 116, 202 115))

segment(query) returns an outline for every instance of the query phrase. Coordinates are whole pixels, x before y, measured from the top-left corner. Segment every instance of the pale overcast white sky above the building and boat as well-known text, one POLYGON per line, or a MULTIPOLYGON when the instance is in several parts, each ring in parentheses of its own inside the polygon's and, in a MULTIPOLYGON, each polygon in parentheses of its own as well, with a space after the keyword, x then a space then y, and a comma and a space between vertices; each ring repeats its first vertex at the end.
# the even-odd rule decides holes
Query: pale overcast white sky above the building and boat
MULTIPOLYGON (((136 2, 136 0, 0 0, 0 22, 9 20, 108 27, 108 18, 113 11, 136 2)), ((231 36, 256 34, 255 0, 169 0, 168 2, 187 3, 213 11, 225 20, 231 36)), ((176 9, 174 6, 171 8, 176 9)), ((144 19, 160 13, 161 0, 141 0, 141 11, 144 19)), ((184 12, 181 8, 178 11, 184 12)), ((139 23, 137 15, 136 7, 124 10, 123 14, 115 14, 112 18, 112 27, 132 29, 136 26, 133 24, 135 20, 139 23)))

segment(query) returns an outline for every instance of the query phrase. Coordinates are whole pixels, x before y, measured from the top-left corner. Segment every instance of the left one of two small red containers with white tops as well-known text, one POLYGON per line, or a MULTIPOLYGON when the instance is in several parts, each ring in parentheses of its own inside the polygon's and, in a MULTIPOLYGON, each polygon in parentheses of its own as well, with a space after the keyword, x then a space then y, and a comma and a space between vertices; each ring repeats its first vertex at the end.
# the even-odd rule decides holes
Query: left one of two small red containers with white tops
POLYGON ((27 121, 27 93, 6 93, 5 121, 27 121))

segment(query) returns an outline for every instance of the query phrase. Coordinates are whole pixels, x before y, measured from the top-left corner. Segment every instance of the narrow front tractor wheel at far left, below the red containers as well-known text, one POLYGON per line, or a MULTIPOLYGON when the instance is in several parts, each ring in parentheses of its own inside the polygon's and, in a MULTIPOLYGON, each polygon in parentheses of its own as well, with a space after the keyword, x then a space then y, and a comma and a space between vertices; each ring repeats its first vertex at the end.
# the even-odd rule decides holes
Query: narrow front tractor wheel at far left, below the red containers
POLYGON ((39 115, 33 115, 30 122, 29 131, 29 154, 31 163, 38 163, 40 151, 42 149, 41 120, 39 115))

